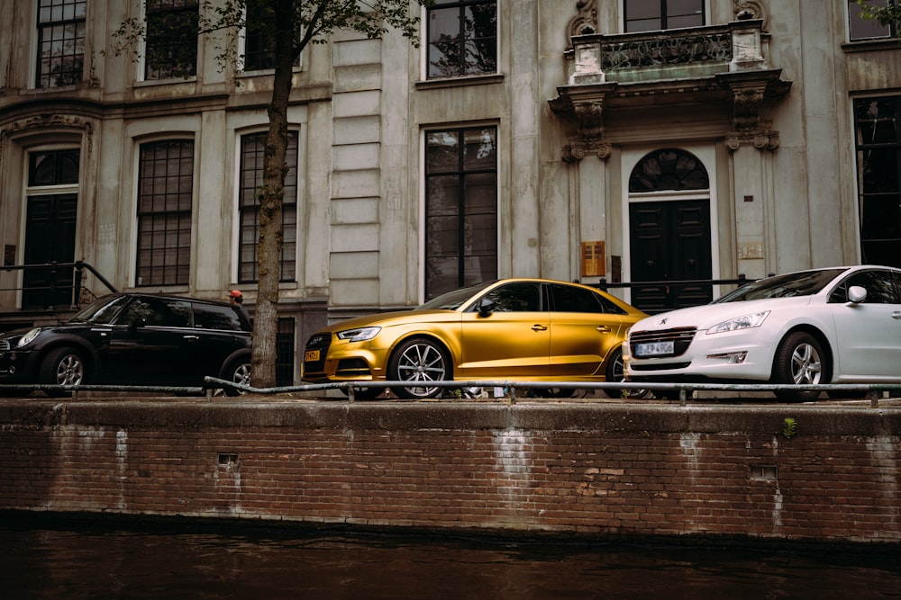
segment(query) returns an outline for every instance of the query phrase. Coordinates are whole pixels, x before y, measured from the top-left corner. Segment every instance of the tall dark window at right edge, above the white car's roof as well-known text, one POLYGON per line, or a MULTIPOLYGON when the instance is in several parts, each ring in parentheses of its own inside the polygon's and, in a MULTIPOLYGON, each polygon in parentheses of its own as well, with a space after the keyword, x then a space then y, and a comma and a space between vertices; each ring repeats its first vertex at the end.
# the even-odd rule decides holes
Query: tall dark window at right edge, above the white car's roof
POLYGON ((854 101, 860 261, 901 267, 901 96, 854 101))

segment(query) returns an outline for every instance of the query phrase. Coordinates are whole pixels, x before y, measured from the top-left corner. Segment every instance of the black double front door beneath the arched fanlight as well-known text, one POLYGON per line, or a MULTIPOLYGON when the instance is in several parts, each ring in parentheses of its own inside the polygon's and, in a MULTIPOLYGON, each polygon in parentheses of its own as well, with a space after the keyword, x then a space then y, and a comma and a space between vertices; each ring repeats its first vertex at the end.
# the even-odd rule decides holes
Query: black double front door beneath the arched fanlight
POLYGON ((713 300, 709 201, 632 202, 629 227, 633 283, 673 282, 633 287, 633 306, 658 313, 713 300))

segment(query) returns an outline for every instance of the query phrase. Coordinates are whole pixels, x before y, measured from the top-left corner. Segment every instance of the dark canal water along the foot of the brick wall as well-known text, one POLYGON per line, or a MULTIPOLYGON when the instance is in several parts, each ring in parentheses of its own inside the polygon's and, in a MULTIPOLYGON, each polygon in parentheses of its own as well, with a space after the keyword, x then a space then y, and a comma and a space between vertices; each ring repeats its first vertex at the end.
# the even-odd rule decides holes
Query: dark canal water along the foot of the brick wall
POLYGON ((859 550, 5 518, 0 598, 901 598, 899 553, 859 550))

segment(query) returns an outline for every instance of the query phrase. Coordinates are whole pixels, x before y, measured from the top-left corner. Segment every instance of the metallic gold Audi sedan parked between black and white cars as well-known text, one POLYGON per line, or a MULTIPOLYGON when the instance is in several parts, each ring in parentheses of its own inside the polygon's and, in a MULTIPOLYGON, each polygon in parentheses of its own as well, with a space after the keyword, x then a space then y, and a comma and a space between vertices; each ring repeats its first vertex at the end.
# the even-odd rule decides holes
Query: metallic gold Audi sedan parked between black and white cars
MULTIPOLYGON (((620 346, 642 311, 578 283, 505 279, 450 291, 417 309, 350 318, 310 336, 303 381, 623 381, 620 346)), ((382 390, 356 395, 374 398, 382 390)), ((618 398, 618 390, 608 396, 618 398)))

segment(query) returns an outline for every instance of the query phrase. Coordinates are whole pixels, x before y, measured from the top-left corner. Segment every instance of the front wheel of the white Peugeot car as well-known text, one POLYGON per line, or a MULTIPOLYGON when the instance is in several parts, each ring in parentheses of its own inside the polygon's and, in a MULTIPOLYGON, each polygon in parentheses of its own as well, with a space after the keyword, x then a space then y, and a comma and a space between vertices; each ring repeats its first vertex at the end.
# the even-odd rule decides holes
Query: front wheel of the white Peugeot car
MULTIPOLYGON (((776 350, 773 363, 773 383, 818 385, 829 372, 823 348, 814 336, 803 331, 791 333, 776 350)), ((820 397, 816 390, 778 390, 778 399, 806 401, 820 397)))

